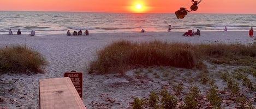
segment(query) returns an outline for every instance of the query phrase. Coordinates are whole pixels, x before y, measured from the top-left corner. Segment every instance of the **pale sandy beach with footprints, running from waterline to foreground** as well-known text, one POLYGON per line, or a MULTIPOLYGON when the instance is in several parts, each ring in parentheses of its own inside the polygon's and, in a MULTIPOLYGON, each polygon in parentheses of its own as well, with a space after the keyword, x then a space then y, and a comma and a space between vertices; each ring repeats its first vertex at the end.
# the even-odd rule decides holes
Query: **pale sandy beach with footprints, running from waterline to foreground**
MULTIPOLYGON (((106 45, 120 40, 132 42, 166 41, 169 43, 236 43, 253 44, 255 37, 249 37, 248 31, 201 31, 200 36, 182 36, 183 32, 145 32, 145 33, 90 33, 89 36, 67 36, 66 34, 28 36, 28 35, 0 35, 0 47, 10 47, 15 44, 25 44, 28 48, 37 50, 46 57, 49 65, 44 66, 43 74, 0 74, 0 109, 1 108, 39 108, 38 80, 47 78, 64 77, 65 72, 75 70, 83 75, 82 100, 87 108, 131 108, 135 97, 148 98, 151 91, 159 91, 162 87, 171 87, 180 81, 186 72, 197 74, 198 70, 172 68, 172 72, 180 72, 181 76, 170 84, 164 78, 154 78, 153 74, 147 74, 147 78, 138 79, 134 70, 129 70, 121 76, 114 72, 108 75, 88 74, 88 64, 97 58, 97 51, 106 45), (11 90, 11 91, 10 91, 11 90)), ((210 69, 217 72, 222 69, 234 69, 237 66, 216 65, 210 69)), ((159 70, 159 69, 154 69, 159 70)), ((146 72, 146 70, 144 70, 146 72)), ((161 74, 159 74, 161 75, 161 74)), ((188 77, 189 78, 189 77, 188 77)), ((255 84, 255 78, 250 77, 255 84), (254 79, 253 79, 254 78, 254 79)), ((227 83, 216 80, 219 90, 223 90, 227 83)), ((205 94, 207 87, 195 83, 205 94)), ((189 84, 184 83, 185 90, 189 84)), ((242 85, 241 85, 242 87, 242 85)), ((256 93, 249 92, 245 87, 249 100, 256 100, 256 93), (247 92, 248 91, 248 92, 247 92)), ((186 91, 184 91, 186 92, 186 91)), ((256 107, 256 102, 252 102, 256 107)), ((207 102, 205 103, 207 105, 207 102)), ((235 103, 225 104, 224 108, 235 108, 235 103)))

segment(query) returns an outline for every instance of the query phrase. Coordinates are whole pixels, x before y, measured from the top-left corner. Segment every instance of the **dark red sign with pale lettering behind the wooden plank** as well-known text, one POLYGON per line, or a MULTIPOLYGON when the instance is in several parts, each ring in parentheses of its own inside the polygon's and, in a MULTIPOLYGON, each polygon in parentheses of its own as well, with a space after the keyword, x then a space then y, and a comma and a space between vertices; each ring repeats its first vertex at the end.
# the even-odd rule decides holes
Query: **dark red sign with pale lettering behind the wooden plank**
POLYGON ((64 77, 69 77, 73 82, 76 91, 82 98, 82 73, 81 72, 66 72, 64 73, 64 77))

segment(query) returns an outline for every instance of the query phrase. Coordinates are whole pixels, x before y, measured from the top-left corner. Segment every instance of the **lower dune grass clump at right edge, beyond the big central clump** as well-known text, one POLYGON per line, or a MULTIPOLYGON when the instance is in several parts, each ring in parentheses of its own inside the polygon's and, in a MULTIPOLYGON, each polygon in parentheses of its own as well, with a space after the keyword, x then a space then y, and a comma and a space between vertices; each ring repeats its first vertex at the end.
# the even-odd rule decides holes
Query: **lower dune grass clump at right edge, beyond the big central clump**
POLYGON ((194 46, 199 59, 215 64, 250 66, 256 62, 256 44, 199 44, 194 46))

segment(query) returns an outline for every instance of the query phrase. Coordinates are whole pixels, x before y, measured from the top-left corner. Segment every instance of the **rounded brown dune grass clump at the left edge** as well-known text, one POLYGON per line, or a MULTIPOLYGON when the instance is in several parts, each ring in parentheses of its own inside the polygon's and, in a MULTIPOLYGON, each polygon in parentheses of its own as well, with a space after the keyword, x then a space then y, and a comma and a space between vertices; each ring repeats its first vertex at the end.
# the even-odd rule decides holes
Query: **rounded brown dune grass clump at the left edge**
POLYGON ((16 45, 0 49, 0 69, 10 72, 40 72, 47 62, 43 55, 26 46, 16 45))

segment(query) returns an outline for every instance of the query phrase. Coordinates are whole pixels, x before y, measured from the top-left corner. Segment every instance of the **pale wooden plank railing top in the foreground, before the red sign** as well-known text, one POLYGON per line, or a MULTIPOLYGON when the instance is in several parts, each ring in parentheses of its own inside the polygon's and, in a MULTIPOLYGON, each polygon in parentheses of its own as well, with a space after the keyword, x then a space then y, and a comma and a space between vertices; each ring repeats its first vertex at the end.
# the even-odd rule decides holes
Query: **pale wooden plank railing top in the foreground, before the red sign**
POLYGON ((40 109, 86 109, 69 77, 39 79, 39 106, 40 109))

